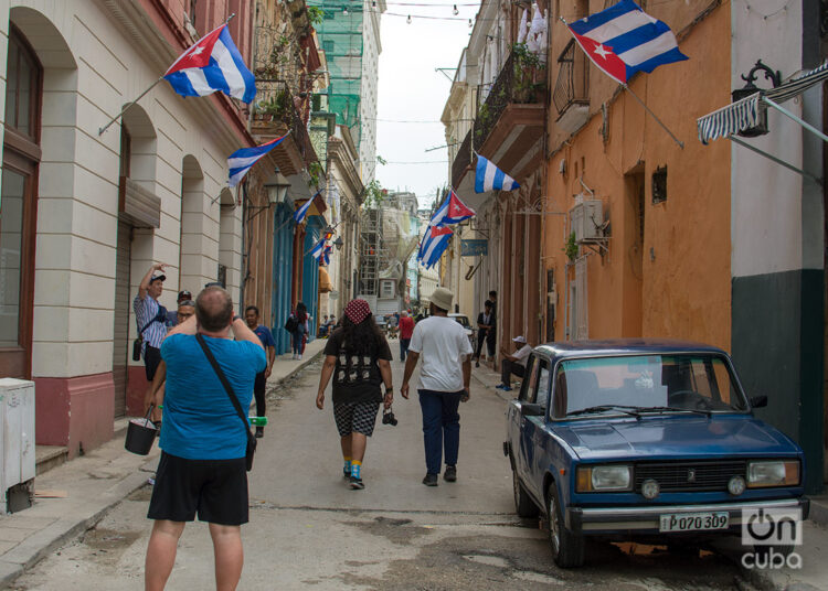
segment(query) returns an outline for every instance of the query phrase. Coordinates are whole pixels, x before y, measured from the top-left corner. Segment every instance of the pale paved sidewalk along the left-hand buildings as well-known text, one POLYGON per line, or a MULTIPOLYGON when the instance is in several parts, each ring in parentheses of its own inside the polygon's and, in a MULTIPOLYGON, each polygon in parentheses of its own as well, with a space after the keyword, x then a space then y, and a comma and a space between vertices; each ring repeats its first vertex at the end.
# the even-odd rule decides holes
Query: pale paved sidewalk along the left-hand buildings
MULTIPOLYGON (((277 358, 267 386, 289 379, 321 354, 327 341, 309 343, 301 361, 277 358)), ((34 480, 35 498, 28 509, 0 514, 0 589, 66 541, 97 524, 112 507, 147 483, 160 449, 135 455, 124 449, 126 420, 117 421, 108 443, 34 480), (117 426, 116 426, 117 427, 117 426)))

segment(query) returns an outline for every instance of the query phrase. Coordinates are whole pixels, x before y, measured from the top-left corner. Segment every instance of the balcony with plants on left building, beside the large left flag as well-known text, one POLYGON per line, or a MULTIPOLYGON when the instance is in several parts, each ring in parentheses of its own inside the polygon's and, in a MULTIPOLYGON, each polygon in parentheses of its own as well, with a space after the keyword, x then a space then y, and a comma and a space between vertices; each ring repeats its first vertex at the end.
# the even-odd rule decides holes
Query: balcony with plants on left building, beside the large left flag
POLYGON ((251 132, 262 141, 285 138, 272 153, 283 174, 290 176, 318 162, 302 114, 309 115, 309 104, 294 97, 280 80, 256 80, 258 94, 253 109, 251 132))

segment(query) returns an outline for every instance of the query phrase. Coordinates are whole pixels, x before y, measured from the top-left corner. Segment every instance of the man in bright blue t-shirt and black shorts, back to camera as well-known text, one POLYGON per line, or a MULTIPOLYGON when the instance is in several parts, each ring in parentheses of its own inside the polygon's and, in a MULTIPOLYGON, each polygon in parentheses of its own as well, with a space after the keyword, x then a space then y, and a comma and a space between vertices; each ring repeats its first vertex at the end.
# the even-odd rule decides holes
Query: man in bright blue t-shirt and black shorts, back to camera
POLYGON ((146 588, 163 589, 176 563, 184 524, 210 524, 216 588, 235 589, 244 554, 241 525, 248 519, 245 450, 248 428, 210 365, 195 334, 230 383, 242 408, 250 408, 256 374, 267 366, 258 336, 220 287, 205 288, 195 315, 170 331, 161 344, 167 393, 156 484, 147 517, 155 519, 147 546, 146 588), (235 341, 230 337, 232 330, 235 341))

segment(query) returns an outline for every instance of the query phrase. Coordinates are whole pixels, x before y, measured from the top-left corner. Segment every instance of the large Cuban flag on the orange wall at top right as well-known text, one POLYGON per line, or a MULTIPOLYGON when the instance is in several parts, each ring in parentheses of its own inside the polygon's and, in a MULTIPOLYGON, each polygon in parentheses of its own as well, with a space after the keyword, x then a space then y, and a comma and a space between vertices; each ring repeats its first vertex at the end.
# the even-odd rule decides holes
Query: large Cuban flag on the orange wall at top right
POLYGON ((592 63, 622 84, 636 72, 652 72, 688 58, 670 28, 633 0, 622 0, 566 26, 592 63))

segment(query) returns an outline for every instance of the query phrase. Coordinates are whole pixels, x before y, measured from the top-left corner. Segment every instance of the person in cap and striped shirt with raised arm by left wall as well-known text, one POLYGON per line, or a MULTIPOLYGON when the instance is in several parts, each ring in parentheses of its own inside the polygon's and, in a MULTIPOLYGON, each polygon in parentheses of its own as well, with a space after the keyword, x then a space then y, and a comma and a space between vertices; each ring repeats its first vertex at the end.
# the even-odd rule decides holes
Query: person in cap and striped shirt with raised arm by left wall
MULTIPOLYGON (((150 266, 138 286, 138 296, 132 301, 135 320, 138 325, 140 356, 144 357, 144 370, 147 376, 147 389, 144 395, 146 408, 149 408, 148 402, 152 396, 152 378, 156 377, 158 365, 161 363, 161 342, 167 336, 167 309, 158 303, 158 298, 163 292, 163 282, 167 279, 167 276, 163 275, 163 268, 162 262, 150 266)), ((137 352, 134 352, 134 357, 135 353, 137 352)), ((158 409, 152 409, 152 420, 161 420, 158 409)))

